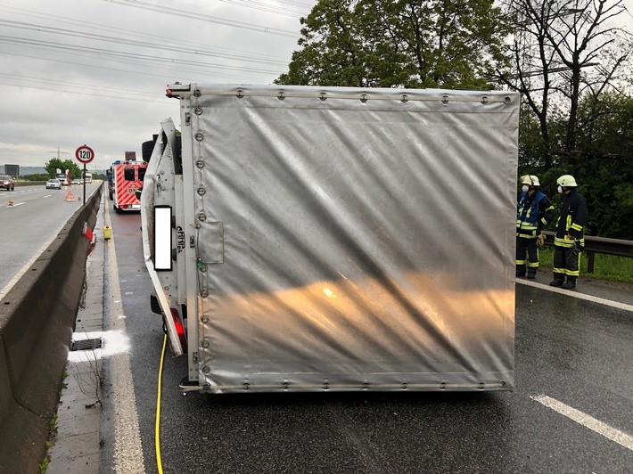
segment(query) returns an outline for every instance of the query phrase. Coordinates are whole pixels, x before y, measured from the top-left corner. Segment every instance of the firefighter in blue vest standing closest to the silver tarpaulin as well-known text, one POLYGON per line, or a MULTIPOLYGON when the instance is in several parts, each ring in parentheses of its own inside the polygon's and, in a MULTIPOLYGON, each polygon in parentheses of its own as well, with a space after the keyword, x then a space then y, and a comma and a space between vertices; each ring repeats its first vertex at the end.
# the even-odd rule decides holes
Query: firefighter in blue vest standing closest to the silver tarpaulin
POLYGON ((521 184, 516 212, 516 276, 525 276, 527 265, 528 278, 532 280, 538 270, 538 247, 545 241, 541 230, 554 219, 554 206, 538 189, 537 176, 521 176, 521 184))

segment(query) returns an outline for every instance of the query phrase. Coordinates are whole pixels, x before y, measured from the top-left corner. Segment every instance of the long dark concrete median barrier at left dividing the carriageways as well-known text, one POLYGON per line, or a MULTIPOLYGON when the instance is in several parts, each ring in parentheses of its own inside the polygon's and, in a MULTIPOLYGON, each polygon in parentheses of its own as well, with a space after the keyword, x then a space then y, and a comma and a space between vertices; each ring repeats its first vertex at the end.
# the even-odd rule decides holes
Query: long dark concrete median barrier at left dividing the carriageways
POLYGON ((0 301, 0 472, 37 473, 45 456, 102 186, 0 301))

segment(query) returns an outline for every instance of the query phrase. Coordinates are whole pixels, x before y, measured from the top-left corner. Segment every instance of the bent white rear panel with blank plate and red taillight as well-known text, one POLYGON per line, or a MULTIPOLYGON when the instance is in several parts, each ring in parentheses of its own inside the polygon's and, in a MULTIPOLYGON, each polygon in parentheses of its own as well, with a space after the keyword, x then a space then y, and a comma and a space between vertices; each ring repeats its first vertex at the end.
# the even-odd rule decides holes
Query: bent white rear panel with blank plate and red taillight
MULTIPOLYGON (((163 122, 162 125, 162 133, 165 132, 165 128, 169 130, 169 127, 173 132, 171 120, 163 122)), ((144 189, 141 194, 143 251, 145 266, 163 316, 169 347, 173 356, 182 356, 186 350, 184 323, 182 316, 174 307, 177 306, 177 301, 169 298, 169 291, 166 290, 169 288, 169 285, 165 284, 167 277, 160 276, 161 272, 169 274, 173 271, 171 242, 174 192, 173 187, 169 190, 169 187, 161 184, 159 177, 163 151, 163 143, 157 140, 145 172, 144 189)), ((162 163, 162 166, 165 164, 162 163)))

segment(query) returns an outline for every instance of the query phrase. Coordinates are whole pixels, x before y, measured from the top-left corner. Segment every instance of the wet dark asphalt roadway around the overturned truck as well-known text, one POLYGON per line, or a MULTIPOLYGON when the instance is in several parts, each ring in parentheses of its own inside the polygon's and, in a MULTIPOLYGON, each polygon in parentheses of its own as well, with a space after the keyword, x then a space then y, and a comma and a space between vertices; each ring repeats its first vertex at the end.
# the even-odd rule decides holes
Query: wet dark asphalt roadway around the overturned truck
MULTIPOLYGON (((144 470, 156 472, 160 316, 149 308, 140 216, 115 215, 111 209, 110 216, 144 470)), ((106 276, 106 327, 113 317, 107 290, 106 276)), ((163 470, 632 472, 633 447, 626 442, 633 436, 633 313, 517 284, 515 350, 514 392, 464 394, 183 396, 177 386, 185 358, 168 355, 161 405, 163 470), (573 421, 539 402, 542 396, 593 417, 601 433, 593 419, 573 421), (612 440, 622 434, 625 445, 612 440)), ((115 458, 108 398, 106 391, 103 472, 112 471, 115 458)))

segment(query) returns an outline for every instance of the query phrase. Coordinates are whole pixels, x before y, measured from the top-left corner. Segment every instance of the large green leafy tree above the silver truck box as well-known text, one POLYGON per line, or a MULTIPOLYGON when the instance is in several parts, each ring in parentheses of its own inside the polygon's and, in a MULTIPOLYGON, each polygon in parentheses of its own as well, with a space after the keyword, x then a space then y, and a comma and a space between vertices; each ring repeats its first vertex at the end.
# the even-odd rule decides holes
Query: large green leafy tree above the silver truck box
POLYGON ((276 84, 489 89, 506 65, 492 0, 320 0, 276 84))

